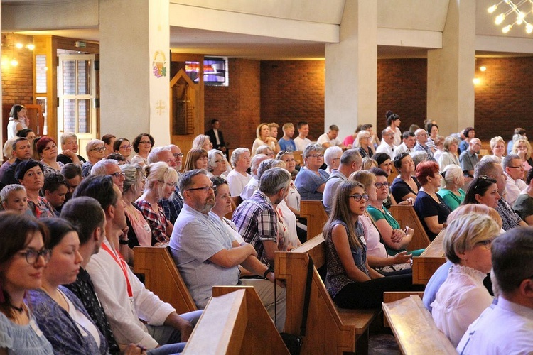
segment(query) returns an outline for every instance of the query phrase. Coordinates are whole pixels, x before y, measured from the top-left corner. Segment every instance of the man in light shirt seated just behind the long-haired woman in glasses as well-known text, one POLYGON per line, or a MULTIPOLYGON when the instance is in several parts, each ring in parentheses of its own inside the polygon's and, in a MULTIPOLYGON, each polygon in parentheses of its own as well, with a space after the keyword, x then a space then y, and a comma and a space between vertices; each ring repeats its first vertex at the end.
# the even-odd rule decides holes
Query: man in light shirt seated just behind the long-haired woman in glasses
POLYGON ((357 149, 348 149, 340 156, 340 165, 338 169, 331 172, 328 181, 325 182, 324 193, 322 195, 322 203, 324 204, 325 212, 330 214, 333 207, 333 197, 340 182, 348 180, 348 177, 355 171, 361 170, 362 158, 357 149))

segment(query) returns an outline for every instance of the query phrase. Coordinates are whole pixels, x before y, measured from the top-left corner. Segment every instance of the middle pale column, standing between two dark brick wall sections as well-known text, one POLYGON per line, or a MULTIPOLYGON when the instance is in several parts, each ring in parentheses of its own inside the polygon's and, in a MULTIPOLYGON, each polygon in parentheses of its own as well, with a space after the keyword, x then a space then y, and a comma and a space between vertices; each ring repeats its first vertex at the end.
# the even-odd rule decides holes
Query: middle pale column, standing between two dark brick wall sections
POLYGON ((346 0, 340 43, 325 45, 325 131, 337 124, 345 137, 357 124, 376 126, 376 111, 377 1, 346 0))

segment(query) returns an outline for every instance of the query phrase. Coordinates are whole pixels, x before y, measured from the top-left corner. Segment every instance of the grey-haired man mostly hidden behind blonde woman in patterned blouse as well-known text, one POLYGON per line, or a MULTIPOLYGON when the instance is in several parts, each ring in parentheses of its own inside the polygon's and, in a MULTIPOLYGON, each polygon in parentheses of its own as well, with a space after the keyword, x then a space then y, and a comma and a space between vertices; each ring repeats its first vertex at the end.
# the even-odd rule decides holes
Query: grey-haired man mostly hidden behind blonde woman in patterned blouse
MULTIPOLYGON (((169 167, 174 168, 176 169, 176 171, 178 171, 179 176, 182 158, 183 154, 181 153, 180 148, 172 144, 171 146, 157 147, 152 149, 152 151, 148 155, 148 163, 157 163, 159 161, 167 163, 169 167), (172 151, 175 151, 176 153, 172 153, 172 151)), ((161 207, 163 208, 163 212, 165 212, 166 219, 168 219, 168 221, 174 224, 181 212, 181 209, 183 208, 183 197, 180 193, 180 187, 176 185, 172 196, 168 199, 161 199, 160 203, 161 207)))

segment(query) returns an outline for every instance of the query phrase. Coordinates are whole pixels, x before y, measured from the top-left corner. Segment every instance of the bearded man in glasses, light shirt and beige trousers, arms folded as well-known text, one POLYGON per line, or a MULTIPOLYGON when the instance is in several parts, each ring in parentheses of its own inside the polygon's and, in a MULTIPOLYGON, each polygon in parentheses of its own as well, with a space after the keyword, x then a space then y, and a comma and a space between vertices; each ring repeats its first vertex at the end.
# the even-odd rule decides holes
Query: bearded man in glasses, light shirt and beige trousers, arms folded
MULTIPOLYGON (((278 288, 274 300, 274 271, 259 261, 252 245, 239 244, 220 218, 211 212, 215 206, 215 189, 207 172, 190 170, 183 173, 180 190, 184 204, 174 224, 170 247, 172 258, 197 307, 205 307, 214 285, 252 285, 272 319, 276 304, 276 328, 281 332, 285 324, 285 290, 278 288), (264 279, 239 280, 239 264, 264 279)), ((275 237, 274 234, 274 240, 275 237)))

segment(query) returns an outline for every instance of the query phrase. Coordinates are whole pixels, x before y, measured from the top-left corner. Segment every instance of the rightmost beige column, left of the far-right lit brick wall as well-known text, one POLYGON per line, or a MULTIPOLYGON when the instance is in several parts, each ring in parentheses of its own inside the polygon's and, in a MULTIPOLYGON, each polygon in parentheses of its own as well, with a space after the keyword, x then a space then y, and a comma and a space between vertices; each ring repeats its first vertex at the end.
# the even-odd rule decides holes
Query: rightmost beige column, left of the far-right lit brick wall
POLYGON ((475 1, 448 5, 442 49, 428 51, 428 119, 441 135, 474 126, 475 1))

